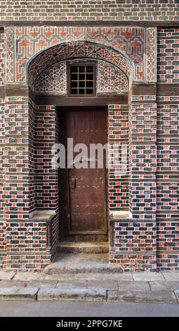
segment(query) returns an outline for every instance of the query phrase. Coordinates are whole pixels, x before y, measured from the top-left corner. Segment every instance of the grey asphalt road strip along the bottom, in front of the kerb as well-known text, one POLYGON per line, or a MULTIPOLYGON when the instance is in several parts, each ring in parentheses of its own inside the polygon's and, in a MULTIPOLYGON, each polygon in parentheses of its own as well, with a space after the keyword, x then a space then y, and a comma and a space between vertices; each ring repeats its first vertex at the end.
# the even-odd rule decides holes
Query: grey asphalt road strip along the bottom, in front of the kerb
POLYGON ((0 317, 179 317, 179 304, 0 301, 0 317))

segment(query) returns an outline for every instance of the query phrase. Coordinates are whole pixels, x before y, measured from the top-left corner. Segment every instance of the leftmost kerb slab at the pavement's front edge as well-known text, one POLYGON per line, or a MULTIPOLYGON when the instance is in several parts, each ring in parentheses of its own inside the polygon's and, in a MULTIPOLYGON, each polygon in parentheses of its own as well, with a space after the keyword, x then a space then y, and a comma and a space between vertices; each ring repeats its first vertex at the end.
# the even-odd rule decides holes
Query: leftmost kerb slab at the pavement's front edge
POLYGON ((4 300, 36 300, 37 287, 1 287, 0 299, 4 300))

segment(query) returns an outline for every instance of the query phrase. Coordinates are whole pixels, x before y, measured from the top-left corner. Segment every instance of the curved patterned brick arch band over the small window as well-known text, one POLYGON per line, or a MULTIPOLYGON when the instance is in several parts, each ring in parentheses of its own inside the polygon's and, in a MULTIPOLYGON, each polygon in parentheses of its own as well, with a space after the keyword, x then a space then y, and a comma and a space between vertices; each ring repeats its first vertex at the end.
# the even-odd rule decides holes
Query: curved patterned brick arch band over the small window
POLYGON ((133 63, 126 55, 110 46, 94 42, 77 41, 51 46, 31 58, 27 63, 27 83, 29 87, 34 91, 35 81, 46 67, 72 58, 95 58, 112 63, 124 72, 128 77, 129 85, 131 85, 133 63))

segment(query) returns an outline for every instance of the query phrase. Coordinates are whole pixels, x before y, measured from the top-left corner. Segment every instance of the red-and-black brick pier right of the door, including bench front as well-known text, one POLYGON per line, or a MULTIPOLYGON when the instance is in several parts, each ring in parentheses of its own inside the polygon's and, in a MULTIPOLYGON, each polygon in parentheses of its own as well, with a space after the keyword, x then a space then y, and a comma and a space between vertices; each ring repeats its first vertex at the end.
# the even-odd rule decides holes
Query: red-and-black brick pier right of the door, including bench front
POLYGON ((157 106, 154 101, 152 94, 133 94, 129 104, 128 199, 131 218, 113 220, 114 246, 110 254, 110 261, 121 264, 126 271, 157 270, 157 106))

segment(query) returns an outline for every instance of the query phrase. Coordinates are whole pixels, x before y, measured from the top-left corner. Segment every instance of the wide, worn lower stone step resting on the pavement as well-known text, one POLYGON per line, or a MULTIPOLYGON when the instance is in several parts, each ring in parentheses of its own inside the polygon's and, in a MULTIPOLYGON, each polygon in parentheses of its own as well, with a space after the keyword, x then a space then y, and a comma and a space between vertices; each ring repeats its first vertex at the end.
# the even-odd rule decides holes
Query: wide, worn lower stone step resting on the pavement
POLYGON ((57 254, 54 263, 44 269, 48 275, 76 275, 80 273, 123 273, 119 265, 110 264, 108 254, 57 254))

